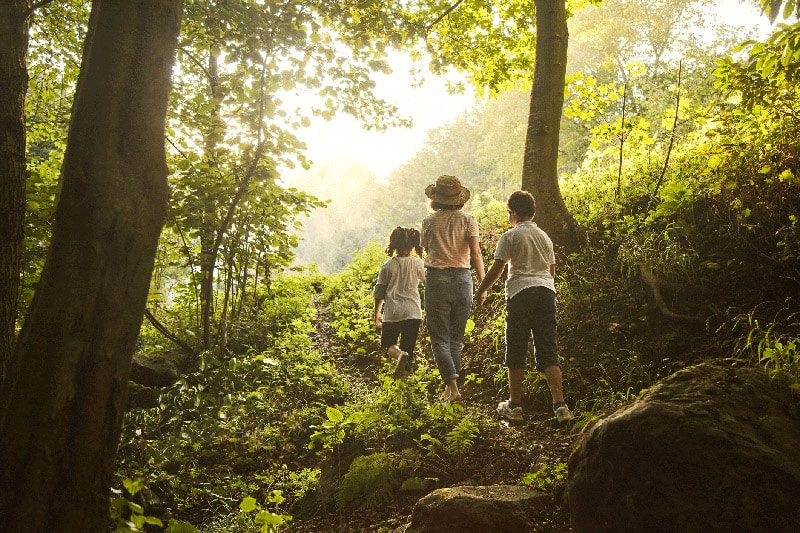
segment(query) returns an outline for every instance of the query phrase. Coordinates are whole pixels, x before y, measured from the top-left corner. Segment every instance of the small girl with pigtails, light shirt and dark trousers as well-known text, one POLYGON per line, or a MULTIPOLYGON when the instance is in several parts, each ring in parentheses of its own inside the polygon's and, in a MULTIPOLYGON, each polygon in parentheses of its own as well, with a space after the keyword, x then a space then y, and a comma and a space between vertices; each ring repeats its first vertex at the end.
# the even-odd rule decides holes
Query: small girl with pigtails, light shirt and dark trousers
POLYGON ((401 227, 392 230, 386 247, 386 255, 391 259, 381 265, 373 291, 381 348, 386 348, 389 356, 397 360, 395 379, 404 379, 411 372, 422 323, 419 286, 425 282, 425 265, 419 257, 411 257, 412 250, 422 256, 419 231, 401 227))

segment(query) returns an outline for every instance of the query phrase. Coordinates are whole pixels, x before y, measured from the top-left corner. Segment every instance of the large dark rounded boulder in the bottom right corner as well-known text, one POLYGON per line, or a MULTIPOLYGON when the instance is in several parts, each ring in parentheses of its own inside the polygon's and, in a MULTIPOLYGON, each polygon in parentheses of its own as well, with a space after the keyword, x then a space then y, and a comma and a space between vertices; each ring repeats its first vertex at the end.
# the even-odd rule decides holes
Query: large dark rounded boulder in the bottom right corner
POLYGON ((800 531, 790 385, 734 360, 706 363, 597 421, 569 460, 574 531, 800 531))

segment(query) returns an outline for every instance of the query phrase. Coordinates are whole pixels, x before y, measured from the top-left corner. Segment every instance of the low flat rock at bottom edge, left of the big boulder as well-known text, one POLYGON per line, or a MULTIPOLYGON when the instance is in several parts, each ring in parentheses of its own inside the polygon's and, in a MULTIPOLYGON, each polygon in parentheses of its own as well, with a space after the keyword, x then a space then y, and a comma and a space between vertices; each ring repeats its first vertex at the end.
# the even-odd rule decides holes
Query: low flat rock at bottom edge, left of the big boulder
POLYGON ((414 506, 405 533, 509 533, 537 531, 536 515, 550 497, 514 485, 437 489, 414 506))

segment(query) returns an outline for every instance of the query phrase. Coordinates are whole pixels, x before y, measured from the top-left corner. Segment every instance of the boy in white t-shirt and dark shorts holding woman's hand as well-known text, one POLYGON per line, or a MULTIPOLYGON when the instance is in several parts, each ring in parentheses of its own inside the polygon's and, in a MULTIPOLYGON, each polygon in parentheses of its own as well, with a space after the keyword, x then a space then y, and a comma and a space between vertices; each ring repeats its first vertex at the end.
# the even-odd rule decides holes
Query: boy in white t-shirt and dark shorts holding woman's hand
POLYGON ((559 422, 572 420, 564 403, 561 360, 556 341, 555 253, 553 242, 535 222, 536 202, 529 192, 516 191, 507 202, 513 226, 500 236, 489 272, 477 291, 478 304, 510 263, 506 280, 506 356, 509 399, 497 412, 513 421, 522 420, 522 380, 528 367, 528 339, 533 336, 536 368, 544 372, 553 397, 553 413, 559 422))

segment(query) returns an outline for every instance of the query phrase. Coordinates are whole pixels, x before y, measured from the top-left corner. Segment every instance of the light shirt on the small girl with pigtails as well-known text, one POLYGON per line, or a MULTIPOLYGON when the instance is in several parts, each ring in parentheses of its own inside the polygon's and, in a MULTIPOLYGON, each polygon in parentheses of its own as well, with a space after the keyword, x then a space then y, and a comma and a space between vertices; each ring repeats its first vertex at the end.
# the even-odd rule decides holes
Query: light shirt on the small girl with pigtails
POLYGON ((377 285, 386 285, 383 321, 422 319, 419 286, 425 282, 425 264, 419 257, 392 257, 378 272, 377 285))

